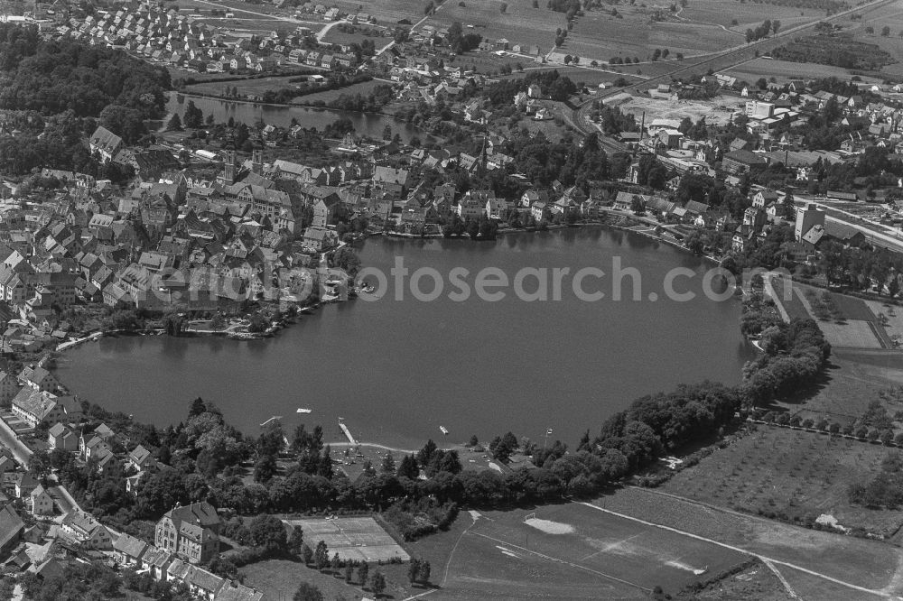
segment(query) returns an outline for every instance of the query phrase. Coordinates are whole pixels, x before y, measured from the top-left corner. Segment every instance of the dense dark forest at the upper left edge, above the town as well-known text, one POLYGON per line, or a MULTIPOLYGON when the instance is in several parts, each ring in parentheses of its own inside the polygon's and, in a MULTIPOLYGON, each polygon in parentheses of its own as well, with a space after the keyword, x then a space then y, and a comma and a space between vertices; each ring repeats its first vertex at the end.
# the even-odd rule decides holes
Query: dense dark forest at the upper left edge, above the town
POLYGON ((123 51, 43 40, 35 28, 0 23, 0 108, 99 116, 107 106, 163 114, 169 73, 123 51))

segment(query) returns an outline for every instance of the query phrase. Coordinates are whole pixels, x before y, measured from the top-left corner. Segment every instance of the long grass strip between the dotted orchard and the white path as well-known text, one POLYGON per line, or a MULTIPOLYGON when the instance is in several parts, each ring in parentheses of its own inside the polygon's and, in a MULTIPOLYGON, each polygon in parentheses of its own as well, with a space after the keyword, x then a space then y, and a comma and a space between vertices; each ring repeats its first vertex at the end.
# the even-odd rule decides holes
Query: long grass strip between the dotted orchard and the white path
MULTIPOLYGON (((801 584, 796 588, 800 598, 875 598, 864 591, 843 587, 842 583, 897 594, 901 587, 898 575, 900 550, 884 542, 818 532, 634 487, 621 489, 592 504, 809 569, 815 575, 805 586, 801 584), (817 575, 840 581, 841 587, 837 590, 842 591, 842 596, 824 596, 831 581, 817 575)), ((777 567, 782 574, 797 572, 789 565, 777 567)))

